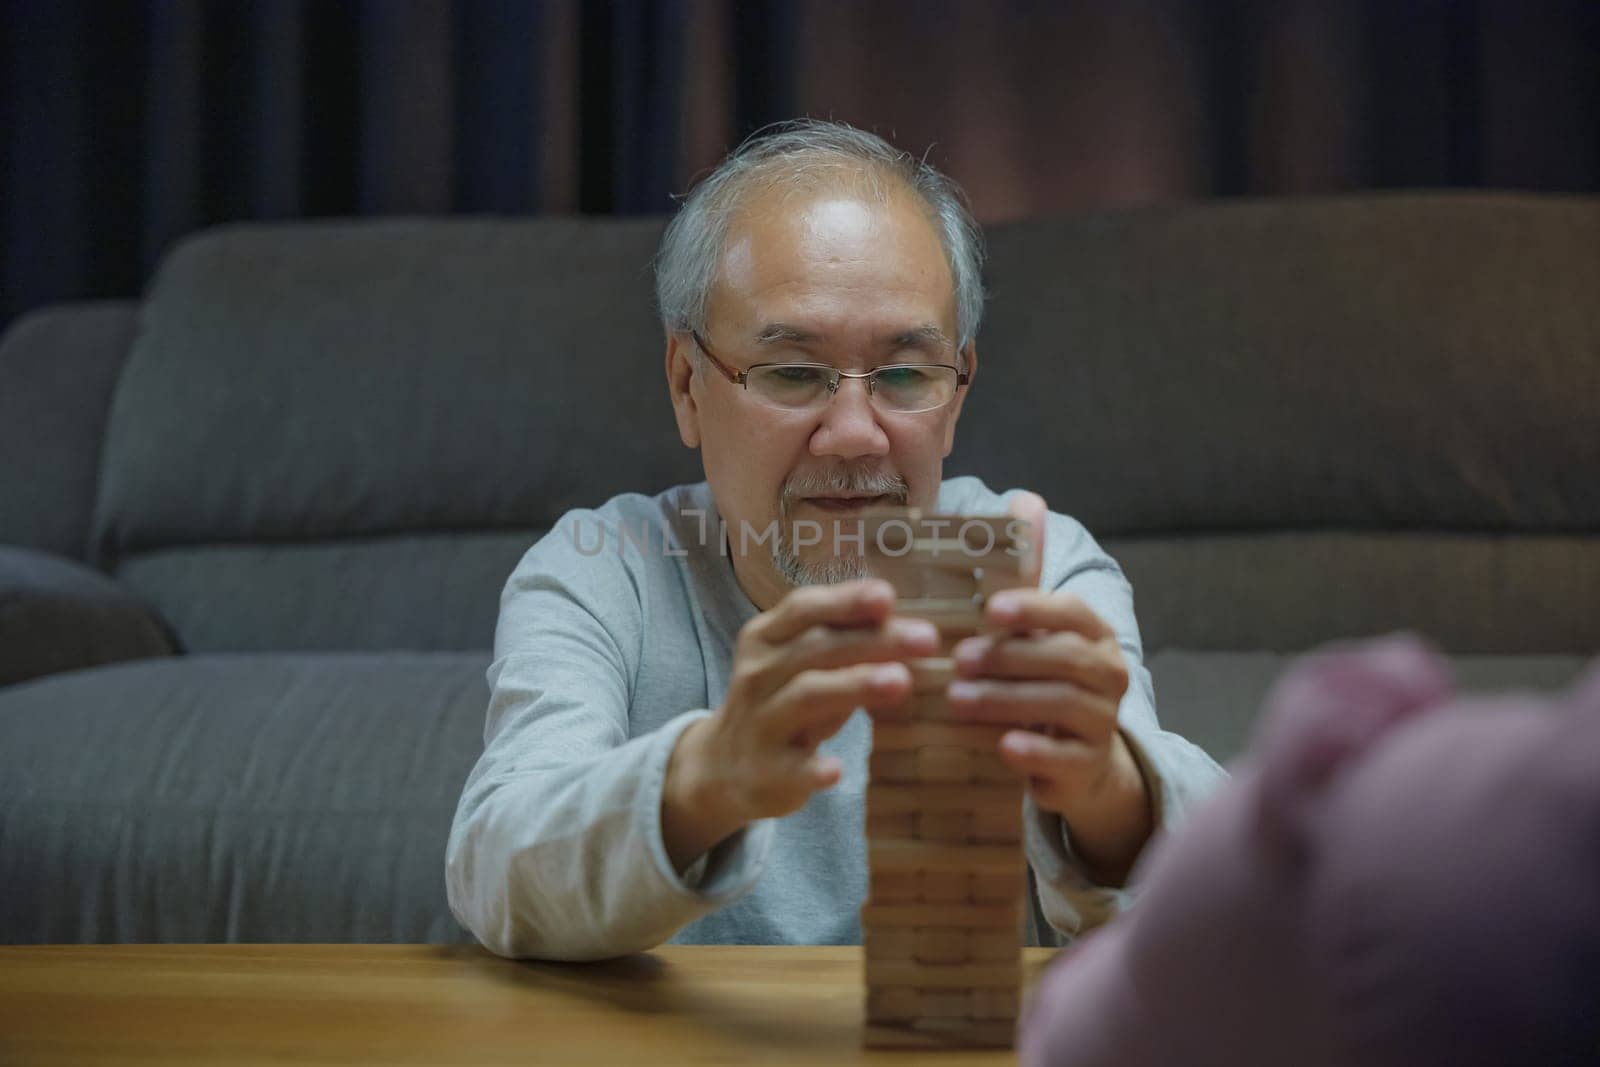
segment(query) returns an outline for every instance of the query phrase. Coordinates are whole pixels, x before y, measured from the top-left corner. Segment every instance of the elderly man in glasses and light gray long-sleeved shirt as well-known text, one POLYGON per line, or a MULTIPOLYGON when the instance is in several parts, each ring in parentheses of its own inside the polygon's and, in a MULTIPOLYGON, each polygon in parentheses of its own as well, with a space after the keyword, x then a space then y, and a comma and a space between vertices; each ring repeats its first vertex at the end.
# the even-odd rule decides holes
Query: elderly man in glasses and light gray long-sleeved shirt
POLYGON ((859 941, 861 712, 904 701, 904 661, 936 643, 853 542, 800 536, 867 507, 1045 530, 1040 589, 990 598, 949 693, 1018 726, 1000 753, 1027 781, 1030 941, 1115 913, 1152 832, 1219 782, 1158 728, 1128 584, 1090 534, 941 477, 978 374, 979 267, 952 182, 838 123, 746 142, 683 203, 658 298, 706 482, 568 515, 507 581, 446 856, 451 907, 491 950, 859 941))

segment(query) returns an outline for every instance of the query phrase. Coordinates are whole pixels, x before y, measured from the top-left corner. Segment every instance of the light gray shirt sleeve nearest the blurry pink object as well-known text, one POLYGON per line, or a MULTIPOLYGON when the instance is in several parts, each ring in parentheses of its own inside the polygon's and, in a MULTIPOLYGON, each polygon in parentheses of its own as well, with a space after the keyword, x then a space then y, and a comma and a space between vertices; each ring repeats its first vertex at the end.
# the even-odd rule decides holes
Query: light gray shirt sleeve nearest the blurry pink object
MULTIPOLYGON (((1064 515, 1050 517, 1045 553, 1045 585, 1077 593, 1117 632, 1128 664, 1128 691, 1117 721, 1150 790, 1154 838, 1174 829, 1227 774, 1200 745, 1162 729, 1133 614, 1133 587, 1117 561, 1064 515)), ((1035 808, 1030 798, 1024 801, 1024 846, 1045 920, 1058 933, 1075 937, 1133 902, 1134 888, 1094 883, 1072 848, 1072 827, 1061 816, 1035 808)))

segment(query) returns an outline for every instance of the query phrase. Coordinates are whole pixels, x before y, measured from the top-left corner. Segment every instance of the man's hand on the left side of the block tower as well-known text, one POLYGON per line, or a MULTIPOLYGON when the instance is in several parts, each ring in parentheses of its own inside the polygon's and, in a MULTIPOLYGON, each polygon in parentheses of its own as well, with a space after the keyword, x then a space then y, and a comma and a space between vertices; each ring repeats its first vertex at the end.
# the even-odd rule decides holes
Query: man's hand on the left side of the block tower
POLYGON ((902 702, 902 661, 939 646, 931 624, 891 617, 893 608, 880 579, 806 585, 744 625, 723 705, 683 731, 667 763, 661 833, 675 870, 838 782, 843 765, 816 747, 858 707, 902 702))

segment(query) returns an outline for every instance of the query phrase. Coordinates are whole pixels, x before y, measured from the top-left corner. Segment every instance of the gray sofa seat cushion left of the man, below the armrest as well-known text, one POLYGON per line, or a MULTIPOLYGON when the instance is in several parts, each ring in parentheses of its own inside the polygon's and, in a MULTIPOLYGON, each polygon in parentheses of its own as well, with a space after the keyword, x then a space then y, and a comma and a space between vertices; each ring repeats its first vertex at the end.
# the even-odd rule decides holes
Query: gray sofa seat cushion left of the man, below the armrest
POLYGON ((186 656, 0 689, 0 941, 470 941, 486 654, 186 656))

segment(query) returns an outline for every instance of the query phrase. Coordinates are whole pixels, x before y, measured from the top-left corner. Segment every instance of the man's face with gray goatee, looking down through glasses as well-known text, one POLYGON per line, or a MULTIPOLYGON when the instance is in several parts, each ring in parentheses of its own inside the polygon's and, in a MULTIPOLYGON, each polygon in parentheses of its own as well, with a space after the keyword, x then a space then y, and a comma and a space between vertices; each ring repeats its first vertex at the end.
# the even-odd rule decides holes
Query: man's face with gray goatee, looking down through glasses
MULTIPOLYGON (((944 250, 906 194, 882 202, 854 192, 762 194, 730 230, 706 341, 733 370, 955 363, 944 250)), ((968 371, 971 357, 962 360, 968 371)), ((906 414, 875 406, 866 381, 845 379, 824 406, 787 411, 694 363, 690 338, 669 341, 678 429, 701 450, 734 569, 757 606, 776 603, 792 584, 858 576, 858 550, 835 530, 851 533, 866 509, 934 506, 965 390, 944 408, 906 414), (770 539, 757 541, 773 523, 782 539, 776 553, 770 539), (802 544, 813 533, 816 544, 802 544)))

